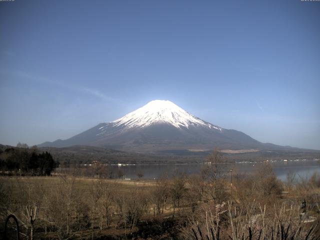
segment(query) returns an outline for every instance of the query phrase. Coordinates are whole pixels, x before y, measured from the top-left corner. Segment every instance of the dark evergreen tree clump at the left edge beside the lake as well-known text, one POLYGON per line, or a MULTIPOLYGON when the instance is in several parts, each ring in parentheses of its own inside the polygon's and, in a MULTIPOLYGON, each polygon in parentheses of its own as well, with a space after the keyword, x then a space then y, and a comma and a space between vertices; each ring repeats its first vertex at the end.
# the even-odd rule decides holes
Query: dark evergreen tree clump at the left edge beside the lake
POLYGON ((50 175, 58 165, 49 152, 38 152, 36 146, 18 143, 0 149, 0 171, 4 175, 50 175))

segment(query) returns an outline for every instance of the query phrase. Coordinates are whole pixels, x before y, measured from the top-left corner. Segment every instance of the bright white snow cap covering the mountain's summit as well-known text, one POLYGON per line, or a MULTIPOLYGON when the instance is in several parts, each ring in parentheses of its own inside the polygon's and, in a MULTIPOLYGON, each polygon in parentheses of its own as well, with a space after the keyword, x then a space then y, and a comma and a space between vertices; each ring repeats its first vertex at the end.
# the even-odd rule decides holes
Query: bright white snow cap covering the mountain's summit
POLYGON ((154 123, 168 123, 176 128, 206 126, 221 131, 220 127, 202 121, 168 100, 153 100, 110 123, 114 126, 146 127, 154 123))

